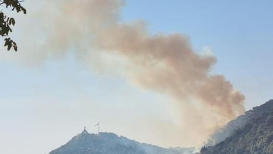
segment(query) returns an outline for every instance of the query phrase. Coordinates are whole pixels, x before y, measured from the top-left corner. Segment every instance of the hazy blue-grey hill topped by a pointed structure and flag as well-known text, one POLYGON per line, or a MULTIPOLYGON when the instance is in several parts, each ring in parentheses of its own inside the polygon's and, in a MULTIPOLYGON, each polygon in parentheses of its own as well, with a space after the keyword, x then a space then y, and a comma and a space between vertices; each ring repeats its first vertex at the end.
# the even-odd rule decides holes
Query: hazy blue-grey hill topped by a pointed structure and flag
POLYGON ((73 137, 68 143, 49 154, 190 154, 194 148, 162 148, 151 144, 139 143, 111 132, 91 134, 85 130, 73 137))

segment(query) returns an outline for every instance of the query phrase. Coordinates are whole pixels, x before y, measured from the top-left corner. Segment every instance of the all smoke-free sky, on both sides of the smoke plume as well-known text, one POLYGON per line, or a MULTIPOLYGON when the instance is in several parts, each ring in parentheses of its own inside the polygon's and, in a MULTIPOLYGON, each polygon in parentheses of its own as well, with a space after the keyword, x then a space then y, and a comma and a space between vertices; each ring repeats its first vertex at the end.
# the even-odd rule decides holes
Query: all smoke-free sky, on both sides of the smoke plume
MULTIPOLYGON (((224 74, 242 91, 248 110, 272 99, 272 5, 272 1, 128 0, 121 20, 144 20, 152 33, 183 33, 191 38, 196 52, 204 47, 213 49, 218 62, 211 73, 224 74)), ((26 6, 32 16, 31 4, 26 2, 26 6)), ((23 22, 24 17, 20 16, 19 21, 23 22)), ((20 27, 15 27, 15 38, 19 31, 20 27)), ((7 52, 0 47, 0 52, 0 122, 4 126, 0 128, 0 144, 6 147, 0 153, 28 151, 33 144, 36 148, 28 153, 48 152, 67 142, 84 125, 93 131, 98 121, 103 131, 170 146, 156 142, 158 138, 146 137, 145 132, 151 130, 144 130, 140 124, 146 123, 138 121, 157 116, 171 119, 168 98, 134 87, 119 76, 109 78, 90 71, 71 55, 29 67, 5 59, 20 59, 24 51, 7 52), (139 133, 129 129, 132 127, 139 133), (36 145, 37 140, 43 140, 40 143, 46 146, 36 145), (18 148, 12 148, 14 145, 18 148)))

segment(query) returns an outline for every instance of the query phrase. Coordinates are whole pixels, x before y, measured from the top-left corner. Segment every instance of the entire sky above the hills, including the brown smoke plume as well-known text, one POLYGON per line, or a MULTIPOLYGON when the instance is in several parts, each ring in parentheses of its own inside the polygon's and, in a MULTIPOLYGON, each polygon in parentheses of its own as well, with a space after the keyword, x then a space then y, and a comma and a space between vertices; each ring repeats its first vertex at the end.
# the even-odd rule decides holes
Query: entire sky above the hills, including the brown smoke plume
POLYGON ((139 142, 201 146, 273 99, 272 4, 32 0, 26 15, 6 10, 18 52, 0 47, 0 153, 49 152, 98 122, 139 142))

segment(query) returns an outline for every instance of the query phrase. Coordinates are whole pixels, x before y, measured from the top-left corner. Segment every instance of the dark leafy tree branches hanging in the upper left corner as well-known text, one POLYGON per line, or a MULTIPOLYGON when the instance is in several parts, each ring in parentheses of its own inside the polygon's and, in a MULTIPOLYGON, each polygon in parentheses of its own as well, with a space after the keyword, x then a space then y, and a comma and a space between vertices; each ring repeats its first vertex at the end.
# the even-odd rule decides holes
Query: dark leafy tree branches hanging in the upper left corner
MULTIPOLYGON (((0 7, 11 8, 12 11, 16 10, 16 12, 23 12, 24 14, 27 13, 27 10, 21 6, 21 2, 18 0, 0 0, 0 7)), ((12 32, 11 26, 15 25, 15 19, 13 17, 7 16, 3 9, 0 10, 0 35, 4 38, 5 44, 4 46, 7 46, 8 51, 13 48, 15 51, 17 51, 17 45, 16 43, 11 40, 9 37, 9 33, 12 32)))

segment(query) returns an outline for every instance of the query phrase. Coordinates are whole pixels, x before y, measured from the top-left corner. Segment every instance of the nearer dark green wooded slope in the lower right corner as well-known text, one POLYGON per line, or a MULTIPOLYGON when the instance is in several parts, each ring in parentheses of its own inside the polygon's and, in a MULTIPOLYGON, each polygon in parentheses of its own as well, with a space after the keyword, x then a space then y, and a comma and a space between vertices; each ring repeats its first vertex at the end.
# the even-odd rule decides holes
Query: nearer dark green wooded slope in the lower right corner
MULTIPOLYGON (((264 104, 269 105, 269 104, 264 104)), ((261 107, 261 106, 260 106, 261 107)), ((265 106, 263 106, 265 107, 265 106)), ((260 108, 261 109, 261 108, 260 108)), ((264 108, 265 109, 265 108, 264 108)), ((267 110, 267 109, 266 109, 267 110)), ((201 154, 272 154, 273 109, 250 120, 232 136, 212 147, 203 147, 201 154)))

